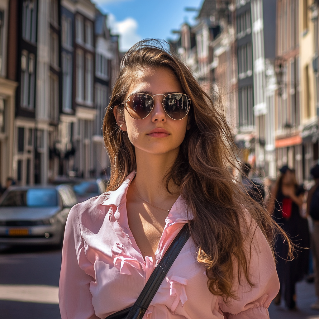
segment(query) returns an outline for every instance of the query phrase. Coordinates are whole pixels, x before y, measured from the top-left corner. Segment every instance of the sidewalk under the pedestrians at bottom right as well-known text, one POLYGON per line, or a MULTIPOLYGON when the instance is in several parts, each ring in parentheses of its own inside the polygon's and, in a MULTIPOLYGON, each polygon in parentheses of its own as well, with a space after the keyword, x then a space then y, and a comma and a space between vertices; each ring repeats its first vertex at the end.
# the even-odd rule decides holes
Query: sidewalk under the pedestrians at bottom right
POLYGON ((271 303, 269 307, 270 319, 319 319, 319 310, 310 309, 310 305, 316 301, 315 286, 301 281, 297 284, 297 308, 288 310, 284 302, 280 306, 271 303))

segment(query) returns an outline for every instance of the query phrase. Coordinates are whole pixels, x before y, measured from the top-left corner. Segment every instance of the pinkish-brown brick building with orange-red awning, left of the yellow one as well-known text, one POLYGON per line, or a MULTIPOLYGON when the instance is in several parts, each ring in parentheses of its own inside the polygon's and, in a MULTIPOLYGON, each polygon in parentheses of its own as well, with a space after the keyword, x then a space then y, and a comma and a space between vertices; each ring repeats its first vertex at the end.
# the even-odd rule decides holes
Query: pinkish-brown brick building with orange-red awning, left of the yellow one
POLYGON ((276 9, 276 164, 278 169, 283 165, 295 168, 298 182, 303 181, 300 137, 303 104, 300 103, 301 2, 277 0, 276 9))

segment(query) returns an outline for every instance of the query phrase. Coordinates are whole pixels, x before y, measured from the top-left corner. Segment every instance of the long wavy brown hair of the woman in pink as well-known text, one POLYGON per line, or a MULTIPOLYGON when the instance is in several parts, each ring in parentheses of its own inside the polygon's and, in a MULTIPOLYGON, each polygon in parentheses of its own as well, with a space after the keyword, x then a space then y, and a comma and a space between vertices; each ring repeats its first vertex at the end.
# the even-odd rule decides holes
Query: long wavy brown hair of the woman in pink
POLYGON ((175 183, 194 216, 189 221, 191 238, 197 247, 197 261, 206 268, 209 290, 226 299, 235 298, 232 284, 236 274, 240 281, 243 273, 248 283, 254 285, 249 278, 249 256, 244 253, 247 239, 244 233, 247 232, 243 232, 243 227, 249 229, 253 223, 244 225, 247 221, 245 214, 250 213, 271 248, 278 227, 264 207, 247 195, 241 182, 235 181, 230 172, 238 167, 237 148, 222 108, 212 102, 188 67, 170 53, 163 42, 140 41, 122 59, 103 122, 104 141, 111 162, 108 190, 117 189, 136 169, 134 146, 127 132, 117 125, 113 108, 117 106, 123 114, 123 101, 129 87, 139 73, 137 71, 145 68, 170 69, 180 81, 183 93, 192 100, 190 129, 186 131, 164 182, 168 191, 169 182, 175 183))

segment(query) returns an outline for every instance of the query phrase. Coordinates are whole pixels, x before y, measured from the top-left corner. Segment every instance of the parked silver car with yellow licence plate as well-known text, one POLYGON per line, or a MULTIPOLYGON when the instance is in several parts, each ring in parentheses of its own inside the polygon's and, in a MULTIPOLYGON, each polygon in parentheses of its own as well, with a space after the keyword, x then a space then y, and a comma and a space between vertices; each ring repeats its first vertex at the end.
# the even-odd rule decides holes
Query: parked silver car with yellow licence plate
POLYGON ((0 243, 59 245, 77 203, 69 185, 11 186, 0 198, 0 243))

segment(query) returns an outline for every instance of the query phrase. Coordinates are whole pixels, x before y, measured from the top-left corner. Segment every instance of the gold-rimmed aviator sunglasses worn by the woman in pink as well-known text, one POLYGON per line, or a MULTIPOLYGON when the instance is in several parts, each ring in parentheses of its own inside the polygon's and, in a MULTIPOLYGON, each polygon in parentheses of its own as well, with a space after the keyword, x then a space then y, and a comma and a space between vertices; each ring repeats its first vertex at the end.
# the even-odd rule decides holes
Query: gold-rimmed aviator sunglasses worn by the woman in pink
MULTIPOLYGON (((136 120, 142 120, 149 115, 154 107, 154 96, 145 93, 134 93, 123 102, 129 114, 136 120)), ((173 120, 182 120, 189 112, 190 98, 183 93, 164 95, 163 107, 165 113, 173 120)))

